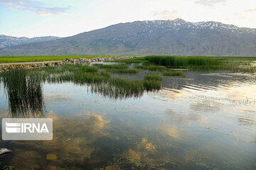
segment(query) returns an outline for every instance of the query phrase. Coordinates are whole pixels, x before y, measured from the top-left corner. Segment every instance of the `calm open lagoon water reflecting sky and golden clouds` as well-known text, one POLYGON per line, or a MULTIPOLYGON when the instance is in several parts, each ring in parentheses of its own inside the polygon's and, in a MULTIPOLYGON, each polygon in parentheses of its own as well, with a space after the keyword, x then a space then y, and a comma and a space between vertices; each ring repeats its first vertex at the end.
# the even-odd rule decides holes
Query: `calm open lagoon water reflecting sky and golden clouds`
MULTIPOLYGON (((188 71, 186 77, 164 77, 161 86, 112 98, 92 93, 90 85, 45 83, 43 101, 28 109, 43 108, 38 116, 53 118, 53 140, 1 140, 13 152, 0 157, 0 166, 256 169, 255 75, 188 71)), ((29 117, 11 113, 10 105, 1 83, 1 118, 29 117)))

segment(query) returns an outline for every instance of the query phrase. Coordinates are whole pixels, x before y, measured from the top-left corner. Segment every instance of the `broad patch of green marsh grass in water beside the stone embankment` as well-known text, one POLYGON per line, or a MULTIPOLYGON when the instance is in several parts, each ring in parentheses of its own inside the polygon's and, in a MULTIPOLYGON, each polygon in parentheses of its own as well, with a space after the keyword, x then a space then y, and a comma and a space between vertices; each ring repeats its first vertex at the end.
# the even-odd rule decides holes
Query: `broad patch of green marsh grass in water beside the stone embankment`
POLYGON ((65 64, 63 67, 46 67, 42 69, 20 70, 26 77, 38 76, 39 83, 62 84, 73 82, 74 84, 88 85, 92 92, 100 93, 111 98, 127 98, 141 96, 144 91, 155 91, 160 88, 160 83, 156 81, 127 80, 110 78, 110 72, 137 73, 138 69, 129 69, 124 64, 114 64, 105 70, 98 72, 97 67, 82 64, 65 64), (108 72, 110 71, 110 72, 108 72), (156 89, 155 89, 156 88, 156 89))

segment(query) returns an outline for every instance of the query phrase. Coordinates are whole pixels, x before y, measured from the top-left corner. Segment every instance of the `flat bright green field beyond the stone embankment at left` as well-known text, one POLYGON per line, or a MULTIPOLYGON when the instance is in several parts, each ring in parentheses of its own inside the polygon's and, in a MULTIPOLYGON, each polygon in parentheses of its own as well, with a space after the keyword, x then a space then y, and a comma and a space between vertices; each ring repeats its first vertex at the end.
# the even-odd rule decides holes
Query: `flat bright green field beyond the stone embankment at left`
MULTIPOLYGON (((45 62, 58 61, 66 58, 95 58, 95 57, 122 57, 124 55, 69 55, 69 56, 17 56, 17 57, 0 57, 0 63, 15 63, 15 62, 45 62)), ((131 55, 129 55, 131 56, 131 55)))

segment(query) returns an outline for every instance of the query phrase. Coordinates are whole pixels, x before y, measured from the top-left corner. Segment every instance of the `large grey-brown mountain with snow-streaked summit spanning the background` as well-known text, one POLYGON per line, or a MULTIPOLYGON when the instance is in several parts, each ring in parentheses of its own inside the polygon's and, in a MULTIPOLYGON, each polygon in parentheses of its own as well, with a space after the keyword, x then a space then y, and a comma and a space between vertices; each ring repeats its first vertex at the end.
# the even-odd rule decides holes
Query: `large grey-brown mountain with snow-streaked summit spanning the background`
POLYGON ((5 47, 0 55, 256 56, 256 29, 213 21, 135 21, 68 38, 5 47))

